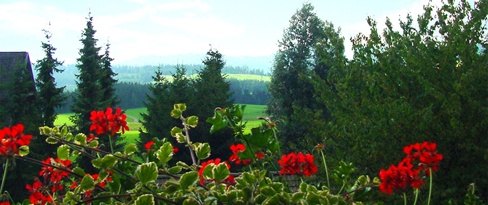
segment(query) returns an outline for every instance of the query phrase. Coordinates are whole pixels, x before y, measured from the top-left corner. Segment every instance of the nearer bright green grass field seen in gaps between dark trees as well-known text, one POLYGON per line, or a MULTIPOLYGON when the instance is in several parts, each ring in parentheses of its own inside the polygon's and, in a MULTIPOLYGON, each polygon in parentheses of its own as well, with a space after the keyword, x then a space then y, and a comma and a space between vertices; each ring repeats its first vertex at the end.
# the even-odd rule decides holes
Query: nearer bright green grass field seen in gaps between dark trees
MULTIPOLYGON (((246 105, 243 119, 248 120, 248 124, 245 133, 249 133, 251 131, 251 128, 257 127, 261 124, 262 120, 257 120, 257 118, 267 117, 265 110, 266 106, 246 105)), ((127 109, 125 111, 125 114, 141 119, 140 114, 143 112, 146 112, 146 108, 133 108, 127 109)), ((73 126, 73 123, 69 120, 69 117, 72 115, 73 113, 59 114, 58 118, 54 121, 54 125, 62 126, 66 124, 68 126, 73 126)), ((128 144, 136 143, 136 139, 139 138, 139 128, 141 128, 141 124, 134 122, 132 118, 127 118, 127 126, 129 127, 130 131, 126 131, 125 134, 123 134, 122 136, 125 137, 125 141, 128 144)))

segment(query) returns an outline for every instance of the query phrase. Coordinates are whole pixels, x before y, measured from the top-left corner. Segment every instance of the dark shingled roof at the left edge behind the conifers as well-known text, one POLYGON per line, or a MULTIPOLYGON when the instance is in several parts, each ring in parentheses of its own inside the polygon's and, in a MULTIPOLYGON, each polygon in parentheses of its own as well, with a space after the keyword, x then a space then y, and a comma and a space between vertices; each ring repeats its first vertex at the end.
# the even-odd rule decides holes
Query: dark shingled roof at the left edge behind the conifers
POLYGON ((7 96, 9 85, 18 81, 16 73, 31 79, 29 80, 31 83, 26 86, 29 86, 29 90, 32 91, 29 94, 33 95, 35 93, 34 75, 32 74, 29 53, 0 52, 0 99, 7 96))

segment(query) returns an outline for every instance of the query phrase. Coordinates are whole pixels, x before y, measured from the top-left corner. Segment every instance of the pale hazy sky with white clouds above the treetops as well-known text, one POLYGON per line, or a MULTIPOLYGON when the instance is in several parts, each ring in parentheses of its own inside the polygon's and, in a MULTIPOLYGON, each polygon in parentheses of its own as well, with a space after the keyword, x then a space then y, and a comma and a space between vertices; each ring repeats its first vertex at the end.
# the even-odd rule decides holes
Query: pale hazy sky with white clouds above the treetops
MULTIPOLYGON (((346 55, 349 38, 368 31, 366 17, 384 28, 410 13, 422 12, 428 0, 310 1, 322 19, 341 27, 346 55)), ((470 1, 471 2, 471 1, 470 1)), ((54 57, 73 64, 91 11, 98 46, 107 40, 114 63, 143 55, 205 53, 209 44, 227 56, 262 56, 277 51, 278 40, 303 1, 7 1, 0 0, 0 51, 27 51, 42 58, 43 29, 52 33, 54 57), (51 24, 49 26, 48 24, 51 24)), ((430 3, 434 4, 434 3, 430 3)), ((176 60, 175 62, 176 63, 176 60)))

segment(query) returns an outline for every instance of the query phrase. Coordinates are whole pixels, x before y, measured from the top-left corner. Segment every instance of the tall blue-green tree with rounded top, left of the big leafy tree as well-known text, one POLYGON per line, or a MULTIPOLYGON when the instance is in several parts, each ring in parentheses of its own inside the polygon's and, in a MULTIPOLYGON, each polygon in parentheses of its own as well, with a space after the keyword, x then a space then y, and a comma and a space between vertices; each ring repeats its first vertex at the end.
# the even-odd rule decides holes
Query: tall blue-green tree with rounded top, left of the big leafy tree
POLYGON ((316 54, 316 45, 329 38, 327 29, 333 30, 333 25, 318 18, 311 4, 304 4, 291 17, 290 27, 285 30, 275 55, 268 87, 271 94, 268 112, 281 121, 280 139, 292 150, 309 149, 321 137, 312 132, 308 120, 303 118, 304 113, 327 118, 314 97, 310 81, 312 74, 327 76, 329 66, 318 60, 316 54))

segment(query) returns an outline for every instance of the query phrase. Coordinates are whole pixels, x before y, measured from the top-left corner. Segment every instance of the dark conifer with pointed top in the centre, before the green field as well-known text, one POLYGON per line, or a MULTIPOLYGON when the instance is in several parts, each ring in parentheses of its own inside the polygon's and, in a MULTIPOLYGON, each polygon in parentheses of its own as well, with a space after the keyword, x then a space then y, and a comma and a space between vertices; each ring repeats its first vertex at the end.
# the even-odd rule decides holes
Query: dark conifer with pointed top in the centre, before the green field
POLYGON ((197 110, 194 114, 188 112, 189 116, 196 115, 199 119, 197 128, 192 130, 194 134, 191 133, 192 141, 209 142, 212 147, 212 158, 224 159, 229 155, 229 146, 235 141, 232 131, 226 129, 210 134, 211 124, 205 120, 214 115, 215 108, 234 105, 230 83, 227 81, 226 75, 221 73, 226 62, 223 60, 222 54, 210 49, 202 63, 203 68, 198 72, 194 84, 196 93, 193 105, 197 110))

